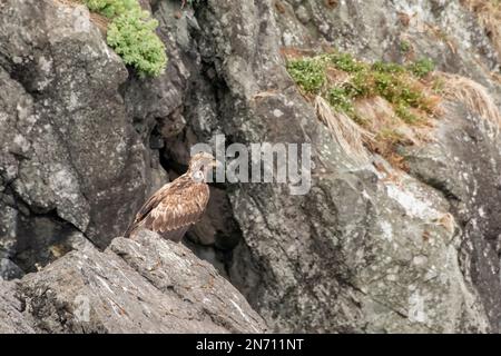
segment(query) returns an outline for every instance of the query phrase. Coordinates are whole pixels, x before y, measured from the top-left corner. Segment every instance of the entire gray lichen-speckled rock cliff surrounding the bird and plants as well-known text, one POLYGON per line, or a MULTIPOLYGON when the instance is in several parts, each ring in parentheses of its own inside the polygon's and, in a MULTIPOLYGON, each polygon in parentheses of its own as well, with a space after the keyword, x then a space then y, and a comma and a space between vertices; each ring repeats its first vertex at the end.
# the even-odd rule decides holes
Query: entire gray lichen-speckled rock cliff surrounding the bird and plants
POLYGON ((167 171, 184 171, 191 145, 224 134, 227 144, 312 144, 308 194, 219 184, 188 234, 272 330, 499 332, 499 122, 448 99, 434 139, 407 149, 409 172, 379 156, 355 164, 281 56, 335 47, 366 60, 431 57, 482 83, 498 110, 499 53, 474 13, 435 0, 207 0, 180 18, 178 1, 150 6, 169 66, 140 80, 84 8, 0 1, 0 273, 55 260, 0 285, 10 316, 0 327, 264 330, 184 247, 153 236, 108 246, 167 171), (86 296, 84 324, 75 315, 86 296))

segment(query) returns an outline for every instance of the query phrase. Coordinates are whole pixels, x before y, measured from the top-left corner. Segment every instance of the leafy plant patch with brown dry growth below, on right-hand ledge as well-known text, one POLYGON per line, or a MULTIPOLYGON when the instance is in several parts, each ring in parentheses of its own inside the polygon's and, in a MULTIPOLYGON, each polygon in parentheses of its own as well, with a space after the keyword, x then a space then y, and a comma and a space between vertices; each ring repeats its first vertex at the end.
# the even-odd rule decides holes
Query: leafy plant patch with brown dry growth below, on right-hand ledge
MULTIPOLYGON (((426 78, 433 69, 430 59, 407 65, 367 63, 340 52, 287 61, 291 77, 306 98, 317 102, 320 96, 333 112, 351 118, 372 135, 373 139, 365 141, 371 150, 403 169, 405 164, 399 146, 416 142, 405 135, 429 125, 430 115, 440 102, 435 95, 440 85, 426 78), (358 102, 362 106, 357 106, 358 102), (367 109, 367 103, 374 106, 374 111, 367 109)), ((343 120, 342 117, 338 120, 343 120)))

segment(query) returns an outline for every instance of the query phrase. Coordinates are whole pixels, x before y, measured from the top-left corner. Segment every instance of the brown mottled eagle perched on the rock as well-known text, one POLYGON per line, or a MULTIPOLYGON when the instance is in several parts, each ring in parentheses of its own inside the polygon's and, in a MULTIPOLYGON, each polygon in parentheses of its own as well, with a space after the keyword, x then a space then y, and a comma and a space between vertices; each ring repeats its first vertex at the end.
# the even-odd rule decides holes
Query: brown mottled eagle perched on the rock
POLYGON ((207 207, 209 199, 207 175, 216 164, 210 154, 194 155, 186 174, 166 184, 145 202, 125 237, 134 238, 138 230, 148 229, 158 233, 165 239, 179 243, 207 207))

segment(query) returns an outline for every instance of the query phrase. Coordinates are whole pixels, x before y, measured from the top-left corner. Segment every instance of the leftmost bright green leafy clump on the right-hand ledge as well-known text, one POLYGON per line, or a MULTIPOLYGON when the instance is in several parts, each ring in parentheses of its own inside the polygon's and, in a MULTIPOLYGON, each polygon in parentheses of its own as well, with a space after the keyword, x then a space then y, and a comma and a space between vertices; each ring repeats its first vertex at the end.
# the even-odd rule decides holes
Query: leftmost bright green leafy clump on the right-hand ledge
POLYGON ((317 93, 326 82, 325 65, 318 59, 292 60, 287 63, 287 70, 294 81, 308 93, 317 93))

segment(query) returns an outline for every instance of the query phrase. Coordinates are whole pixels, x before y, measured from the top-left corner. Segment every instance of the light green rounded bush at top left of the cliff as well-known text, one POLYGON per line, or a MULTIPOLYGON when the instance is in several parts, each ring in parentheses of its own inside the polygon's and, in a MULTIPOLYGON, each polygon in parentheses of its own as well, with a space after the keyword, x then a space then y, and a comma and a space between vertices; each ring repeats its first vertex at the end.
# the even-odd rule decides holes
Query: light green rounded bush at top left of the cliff
POLYGON ((108 44, 141 77, 159 76, 167 65, 165 46, 155 33, 158 21, 141 10, 127 11, 108 27, 108 44))

